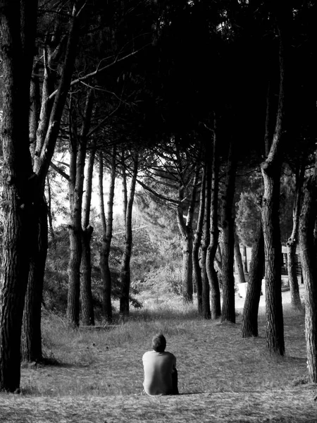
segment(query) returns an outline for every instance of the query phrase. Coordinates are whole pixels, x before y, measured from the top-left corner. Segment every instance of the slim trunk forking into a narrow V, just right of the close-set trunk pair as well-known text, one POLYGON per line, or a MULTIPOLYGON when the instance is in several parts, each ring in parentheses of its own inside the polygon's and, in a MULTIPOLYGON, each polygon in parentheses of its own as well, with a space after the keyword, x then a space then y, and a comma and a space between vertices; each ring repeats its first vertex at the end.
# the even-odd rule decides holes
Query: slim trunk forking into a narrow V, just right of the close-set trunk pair
POLYGON ((116 183, 116 147, 113 147, 110 171, 109 194, 107 204, 107 214, 104 208, 104 163, 102 152, 99 153, 99 201, 100 201, 100 218, 102 224, 102 238, 100 247, 100 270, 103 282, 102 289, 102 310, 106 321, 112 321, 112 305, 111 305, 111 271, 109 266, 109 255, 111 248, 111 239, 113 232, 113 198, 116 183))

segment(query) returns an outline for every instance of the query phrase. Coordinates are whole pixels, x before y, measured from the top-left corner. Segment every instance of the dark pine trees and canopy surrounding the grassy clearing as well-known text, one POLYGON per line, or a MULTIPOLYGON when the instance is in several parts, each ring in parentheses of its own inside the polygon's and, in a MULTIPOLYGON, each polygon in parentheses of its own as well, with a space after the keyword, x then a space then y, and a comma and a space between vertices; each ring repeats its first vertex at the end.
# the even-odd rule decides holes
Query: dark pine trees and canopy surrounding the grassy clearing
POLYGON ((315 19, 304 0, 1 2, 1 390, 43 360, 42 309, 113 324, 168 292, 235 323, 240 246, 242 336, 265 276, 284 355, 282 243, 316 383, 315 19))

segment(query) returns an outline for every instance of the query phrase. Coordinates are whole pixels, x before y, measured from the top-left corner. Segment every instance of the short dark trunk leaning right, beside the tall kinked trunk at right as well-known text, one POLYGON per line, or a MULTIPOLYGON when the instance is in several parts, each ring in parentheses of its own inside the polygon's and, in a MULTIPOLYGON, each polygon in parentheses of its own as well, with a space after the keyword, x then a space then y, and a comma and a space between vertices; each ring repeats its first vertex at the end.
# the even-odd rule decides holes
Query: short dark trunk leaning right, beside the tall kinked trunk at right
POLYGON ((242 314, 242 338, 258 336, 258 313, 264 268, 264 239, 261 220, 252 245, 247 295, 242 314))

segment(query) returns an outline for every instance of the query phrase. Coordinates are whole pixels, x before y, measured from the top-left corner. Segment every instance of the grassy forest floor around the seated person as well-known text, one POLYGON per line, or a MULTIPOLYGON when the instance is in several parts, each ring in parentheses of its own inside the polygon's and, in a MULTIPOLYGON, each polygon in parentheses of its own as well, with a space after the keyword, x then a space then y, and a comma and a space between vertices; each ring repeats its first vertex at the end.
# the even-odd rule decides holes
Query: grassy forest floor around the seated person
MULTIPOLYGON (((304 314, 283 293, 285 357, 266 351, 265 305, 259 337, 237 323, 197 317, 194 307, 157 305, 108 329, 67 329, 44 314, 49 365, 23 364, 21 393, 0 394, 0 422, 317 422, 317 386, 306 372, 304 314), (142 392, 142 355, 163 331, 178 360, 180 396, 142 392)), ((261 299, 263 302, 263 299, 261 299)))

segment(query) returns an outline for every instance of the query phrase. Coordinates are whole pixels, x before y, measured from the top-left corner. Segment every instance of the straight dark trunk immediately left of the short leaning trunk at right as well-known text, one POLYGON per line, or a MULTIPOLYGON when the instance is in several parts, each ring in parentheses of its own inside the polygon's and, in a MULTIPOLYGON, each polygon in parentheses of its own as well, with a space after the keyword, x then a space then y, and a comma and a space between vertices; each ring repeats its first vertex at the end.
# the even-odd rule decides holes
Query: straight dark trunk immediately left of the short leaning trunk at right
POLYGON ((233 276, 235 229, 232 216, 233 197, 235 192, 236 161, 233 152, 232 142, 229 147, 227 178, 222 204, 222 278, 223 278, 223 306, 221 320, 235 323, 235 278, 233 276))

